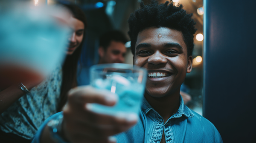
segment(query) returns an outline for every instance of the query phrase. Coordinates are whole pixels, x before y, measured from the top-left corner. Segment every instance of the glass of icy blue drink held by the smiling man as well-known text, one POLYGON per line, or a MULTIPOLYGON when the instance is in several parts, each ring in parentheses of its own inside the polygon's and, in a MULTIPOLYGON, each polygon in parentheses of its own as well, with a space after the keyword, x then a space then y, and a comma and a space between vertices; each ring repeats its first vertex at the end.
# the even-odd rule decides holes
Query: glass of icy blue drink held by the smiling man
POLYGON ((114 106, 93 103, 91 110, 101 114, 117 115, 140 111, 145 91, 147 71, 129 64, 101 64, 90 68, 90 84, 118 95, 114 106))

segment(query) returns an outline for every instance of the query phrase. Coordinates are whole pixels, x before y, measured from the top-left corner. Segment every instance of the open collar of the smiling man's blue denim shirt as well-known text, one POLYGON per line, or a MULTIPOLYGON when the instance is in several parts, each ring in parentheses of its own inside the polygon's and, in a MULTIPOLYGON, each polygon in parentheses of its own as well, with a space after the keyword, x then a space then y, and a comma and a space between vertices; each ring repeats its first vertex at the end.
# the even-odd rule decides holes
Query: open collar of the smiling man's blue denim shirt
MULTIPOLYGON (((144 112, 145 115, 148 114, 148 112, 151 109, 153 109, 151 107, 151 105, 148 103, 148 101, 145 99, 145 97, 143 97, 143 102, 142 102, 141 109, 142 109, 142 111, 144 112)), ((176 112, 176 114, 174 114, 170 118, 177 118, 177 117, 181 117, 182 115, 184 115, 186 117, 193 117, 194 116, 192 111, 186 105, 184 105, 183 99, 180 95, 180 107, 179 107, 178 111, 176 112)))

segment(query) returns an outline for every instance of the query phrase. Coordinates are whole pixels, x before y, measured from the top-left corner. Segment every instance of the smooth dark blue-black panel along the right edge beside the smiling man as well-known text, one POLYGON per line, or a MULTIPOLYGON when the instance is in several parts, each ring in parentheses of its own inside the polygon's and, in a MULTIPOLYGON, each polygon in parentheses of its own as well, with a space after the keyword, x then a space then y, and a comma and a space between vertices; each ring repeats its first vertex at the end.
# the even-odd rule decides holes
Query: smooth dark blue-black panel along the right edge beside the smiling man
POLYGON ((256 1, 204 0, 204 112, 224 143, 256 142, 256 1))

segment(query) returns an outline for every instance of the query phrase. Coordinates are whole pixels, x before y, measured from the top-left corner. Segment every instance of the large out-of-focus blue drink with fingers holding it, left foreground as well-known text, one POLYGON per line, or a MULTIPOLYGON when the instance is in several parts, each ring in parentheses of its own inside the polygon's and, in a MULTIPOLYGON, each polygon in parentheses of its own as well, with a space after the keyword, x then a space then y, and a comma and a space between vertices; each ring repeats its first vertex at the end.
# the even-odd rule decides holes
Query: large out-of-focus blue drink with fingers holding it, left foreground
POLYGON ((69 18, 59 6, 0 2, 0 85, 46 77, 64 59, 69 18))

